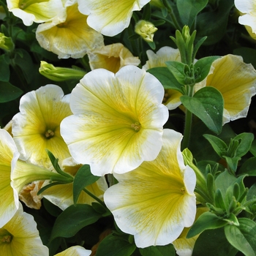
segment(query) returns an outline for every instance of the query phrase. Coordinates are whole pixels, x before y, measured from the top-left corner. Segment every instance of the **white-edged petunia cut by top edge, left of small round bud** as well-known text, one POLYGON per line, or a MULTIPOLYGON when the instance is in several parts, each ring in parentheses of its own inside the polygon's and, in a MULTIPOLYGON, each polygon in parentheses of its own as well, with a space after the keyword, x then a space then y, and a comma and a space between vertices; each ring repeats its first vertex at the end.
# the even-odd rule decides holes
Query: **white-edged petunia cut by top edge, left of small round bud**
POLYGON ((150 0, 78 0, 78 9, 89 15, 91 28, 105 36, 113 37, 129 26, 133 11, 141 10, 150 0))

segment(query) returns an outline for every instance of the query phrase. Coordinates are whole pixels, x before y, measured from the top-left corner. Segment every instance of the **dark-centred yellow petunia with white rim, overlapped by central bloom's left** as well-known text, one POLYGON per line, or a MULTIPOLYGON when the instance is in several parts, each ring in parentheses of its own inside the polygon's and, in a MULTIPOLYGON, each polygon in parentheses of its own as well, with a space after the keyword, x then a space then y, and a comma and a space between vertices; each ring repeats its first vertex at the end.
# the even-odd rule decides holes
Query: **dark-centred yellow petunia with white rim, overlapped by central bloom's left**
POLYGON ((72 114, 69 96, 59 86, 42 86, 20 99, 20 113, 12 118, 12 134, 20 159, 34 165, 49 167, 45 148, 61 160, 70 157, 60 135, 60 123, 72 114))

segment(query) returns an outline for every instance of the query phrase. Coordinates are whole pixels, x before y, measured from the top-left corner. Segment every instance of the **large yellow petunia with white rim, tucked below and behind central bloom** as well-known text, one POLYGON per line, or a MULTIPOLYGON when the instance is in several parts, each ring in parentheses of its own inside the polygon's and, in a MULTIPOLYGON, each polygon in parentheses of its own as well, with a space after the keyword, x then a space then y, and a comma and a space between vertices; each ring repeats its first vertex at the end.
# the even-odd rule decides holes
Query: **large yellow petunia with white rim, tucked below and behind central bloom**
POLYGON ((114 174, 119 183, 105 192, 116 224, 135 236, 138 247, 170 244, 194 222, 196 176, 184 165, 181 138, 165 129, 157 159, 129 173, 114 174))

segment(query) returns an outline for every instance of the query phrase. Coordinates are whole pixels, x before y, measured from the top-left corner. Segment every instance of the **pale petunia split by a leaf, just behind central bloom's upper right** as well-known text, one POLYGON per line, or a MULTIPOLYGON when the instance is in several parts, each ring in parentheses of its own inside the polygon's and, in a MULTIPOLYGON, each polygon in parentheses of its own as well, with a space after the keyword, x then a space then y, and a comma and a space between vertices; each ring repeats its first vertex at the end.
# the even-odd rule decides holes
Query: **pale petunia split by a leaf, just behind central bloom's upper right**
MULTIPOLYGON (((147 50, 146 54, 148 56, 148 61, 143 65, 143 69, 148 70, 153 67, 166 67, 166 61, 181 61, 181 54, 178 49, 171 48, 169 46, 164 46, 160 48, 157 53, 152 50, 147 50)), ((165 97, 162 103, 169 110, 173 110, 181 105, 180 97, 182 94, 179 91, 173 89, 165 90, 165 97)))

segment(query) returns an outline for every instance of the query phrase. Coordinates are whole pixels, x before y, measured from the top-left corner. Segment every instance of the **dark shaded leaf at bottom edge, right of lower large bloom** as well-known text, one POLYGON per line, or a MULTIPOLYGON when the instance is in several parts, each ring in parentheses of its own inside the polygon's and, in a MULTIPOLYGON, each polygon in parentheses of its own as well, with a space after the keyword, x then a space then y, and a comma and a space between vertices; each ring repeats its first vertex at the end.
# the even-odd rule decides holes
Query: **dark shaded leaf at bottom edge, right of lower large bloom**
POLYGON ((237 249, 227 242, 223 228, 206 230, 195 241, 192 256, 235 256, 237 249))

